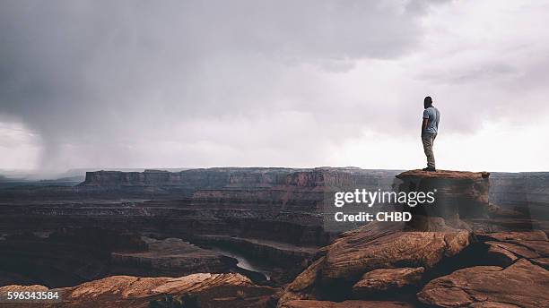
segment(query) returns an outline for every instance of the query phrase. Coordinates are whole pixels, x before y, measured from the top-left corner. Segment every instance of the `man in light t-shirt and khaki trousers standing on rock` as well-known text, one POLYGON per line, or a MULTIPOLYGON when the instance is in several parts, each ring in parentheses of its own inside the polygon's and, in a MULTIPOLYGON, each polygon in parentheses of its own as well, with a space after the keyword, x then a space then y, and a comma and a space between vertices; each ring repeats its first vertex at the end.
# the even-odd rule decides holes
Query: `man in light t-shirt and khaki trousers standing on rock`
POLYGON ((423 171, 437 171, 434 163, 434 153, 432 152, 432 145, 437 133, 439 133, 439 109, 432 106, 432 98, 426 97, 423 99, 423 122, 422 122, 422 141, 423 151, 427 157, 427 167, 423 168, 423 171))

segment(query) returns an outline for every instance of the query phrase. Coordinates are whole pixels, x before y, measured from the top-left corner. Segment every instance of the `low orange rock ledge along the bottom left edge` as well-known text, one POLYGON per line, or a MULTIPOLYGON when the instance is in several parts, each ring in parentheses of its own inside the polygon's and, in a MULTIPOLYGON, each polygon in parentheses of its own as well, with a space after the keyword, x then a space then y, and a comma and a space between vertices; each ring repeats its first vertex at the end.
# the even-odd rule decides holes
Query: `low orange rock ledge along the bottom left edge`
MULTIPOLYGON (((7 291, 29 290, 31 287, 0 287, 7 291)), ((36 286, 37 290, 45 287, 36 286)), ((240 274, 193 274, 180 278, 139 278, 112 276, 58 290, 63 307, 70 308, 145 308, 163 295, 191 294, 200 307, 266 307, 275 289, 259 287, 240 274)), ((4 304, 3 307, 58 307, 59 304, 4 304)))

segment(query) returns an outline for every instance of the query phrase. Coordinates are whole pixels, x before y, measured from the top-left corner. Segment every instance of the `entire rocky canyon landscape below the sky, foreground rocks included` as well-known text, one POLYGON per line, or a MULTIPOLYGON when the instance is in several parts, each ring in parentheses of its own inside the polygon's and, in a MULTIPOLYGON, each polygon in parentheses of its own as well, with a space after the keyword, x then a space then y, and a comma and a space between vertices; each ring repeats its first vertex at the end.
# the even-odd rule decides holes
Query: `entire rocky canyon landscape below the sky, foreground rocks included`
POLYGON ((0 183, 13 307, 546 307, 549 174, 346 167, 88 172, 0 183), (336 191, 437 190, 409 222, 335 231, 336 191))

